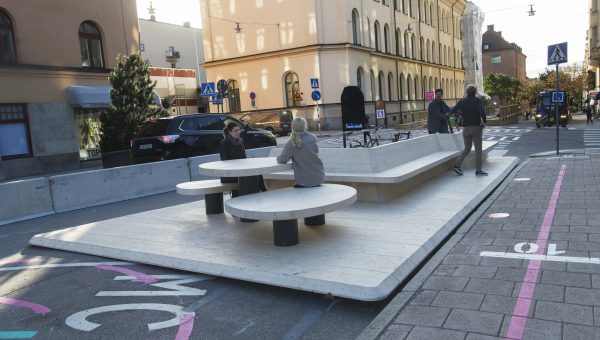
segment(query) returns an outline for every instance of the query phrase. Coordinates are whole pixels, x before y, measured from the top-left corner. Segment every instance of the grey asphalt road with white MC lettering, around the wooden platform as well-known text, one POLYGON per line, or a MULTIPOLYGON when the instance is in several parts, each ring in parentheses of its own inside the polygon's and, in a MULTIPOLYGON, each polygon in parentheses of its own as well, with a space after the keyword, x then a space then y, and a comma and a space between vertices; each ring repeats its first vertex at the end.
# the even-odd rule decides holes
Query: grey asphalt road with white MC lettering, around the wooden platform
MULTIPOLYGON (((561 150, 583 148, 585 127, 577 120, 561 128, 561 150)), ((499 142, 494 153, 521 160, 555 150, 555 137, 554 128, 532 121, 484 133, 499 142)), ((336 138, 341 143, 321 137, 321 147, 336 138)), ((38 233, 191 199, 169 193, 0 226, 0 339, 351 339, 386 305, 154 266, 98 267, 113 260, 28 245, 38 233), (157 282, 135 282, 127 270, 157 282), (179 322, 190 312, 195 318, 179 322), (173 325, 152 325, 173 318, 173 325)))

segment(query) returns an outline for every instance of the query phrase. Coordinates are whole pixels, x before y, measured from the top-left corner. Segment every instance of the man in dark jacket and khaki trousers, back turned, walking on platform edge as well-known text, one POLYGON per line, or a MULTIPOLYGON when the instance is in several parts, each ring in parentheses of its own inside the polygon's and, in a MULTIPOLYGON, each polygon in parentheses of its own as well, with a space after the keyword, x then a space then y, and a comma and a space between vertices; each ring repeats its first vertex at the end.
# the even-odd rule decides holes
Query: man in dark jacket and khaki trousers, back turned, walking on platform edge
POLYGON ((481 144, 483 129, 485 128, 485 110, 483 100, 477 98, 477 88, 473 85, 467 86, 467 97, 461 99, 452 108, 451 115, 461 115, 463 122, 463 139, 465 148, 454 163, 454 172, 463 175, 461 165, 465 157, 471 152, 475 143, 475 175, 487 176, 487 172, 481 169, 481 144))

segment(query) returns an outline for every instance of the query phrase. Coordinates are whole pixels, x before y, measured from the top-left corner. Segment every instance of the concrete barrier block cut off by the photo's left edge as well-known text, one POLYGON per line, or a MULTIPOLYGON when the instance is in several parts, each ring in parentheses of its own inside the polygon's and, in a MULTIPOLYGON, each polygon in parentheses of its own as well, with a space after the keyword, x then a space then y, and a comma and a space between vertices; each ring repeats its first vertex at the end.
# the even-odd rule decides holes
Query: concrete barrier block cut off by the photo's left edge
POLYGON ((54 213, 47 178, 2 183, 0 197, 0 225, 54 213))

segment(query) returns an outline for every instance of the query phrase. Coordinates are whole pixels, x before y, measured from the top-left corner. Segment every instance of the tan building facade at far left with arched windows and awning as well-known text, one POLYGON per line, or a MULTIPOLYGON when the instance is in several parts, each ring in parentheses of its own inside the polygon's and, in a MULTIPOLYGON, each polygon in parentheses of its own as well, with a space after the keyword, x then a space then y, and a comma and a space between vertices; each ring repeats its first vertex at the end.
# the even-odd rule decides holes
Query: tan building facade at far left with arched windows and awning
POLYGON ((0 179, 97 157, 82 128, 97 129, 117 55, 138 49, 135 0, 0 0, 0 179))

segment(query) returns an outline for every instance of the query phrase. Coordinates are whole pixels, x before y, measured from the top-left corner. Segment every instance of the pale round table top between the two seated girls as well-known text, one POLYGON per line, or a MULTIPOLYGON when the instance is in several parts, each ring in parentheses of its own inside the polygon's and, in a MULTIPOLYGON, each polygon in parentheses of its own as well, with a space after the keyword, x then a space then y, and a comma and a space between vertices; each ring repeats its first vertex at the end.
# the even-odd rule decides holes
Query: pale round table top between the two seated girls
POLYGON ((257 157, 203 163, 199 167, 202 175, 244 177, 291 170, 292 163, 279 164, 275 157, 257 157))

